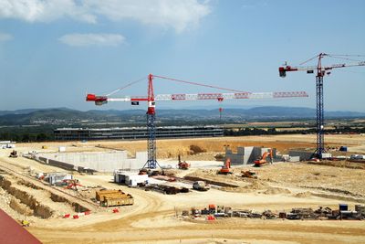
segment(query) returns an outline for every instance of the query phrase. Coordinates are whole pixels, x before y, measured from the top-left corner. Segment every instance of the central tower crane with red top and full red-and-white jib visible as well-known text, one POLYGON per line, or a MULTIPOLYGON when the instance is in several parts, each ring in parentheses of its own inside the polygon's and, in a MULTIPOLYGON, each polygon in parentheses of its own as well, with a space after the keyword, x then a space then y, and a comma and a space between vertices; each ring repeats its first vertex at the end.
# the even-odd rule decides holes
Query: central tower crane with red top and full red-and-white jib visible
POLYGON ((147 97, 143 96, 128 96, 122 98, 110 98, 110 95, 117 91, 123 90, 131 85, 140 82, 141 80, 135 80, 130 82, 126 86, 110 92, 108 95, 96 96, 95 94, 88 94, 86 101, 94 101, 95 105, 103 105, 108 103, 108 101, 129 101, 131 105, 139 105, 140 101, 147 101, 147 148, 148 148, 148 160, 142 168, 155 169, 157 166, 160 167, 156 160, 156 126, 155 126, 155 102, 156 101, 206 101, 206 100, 235 100, 235 99, 282 99, 282 98, 303 98, 308 97, 306 91, 289 91, 289 92, 246 92, 241 90, 232 90, 221 87, 216 87, 212 85, 201 84, 186 80, 177 80, 168 77, 162 77, 150 74, 148 76, 148 94, 147 97), (214 88, 217 90, 230 90, 235 93, 198 93, 198 94, 161 94, 154 95, 153 92, 153 79, 159 78, 163 80, 171 80, 175 82, 181 82, 185 84, 203 86, 208 88, 214 88))

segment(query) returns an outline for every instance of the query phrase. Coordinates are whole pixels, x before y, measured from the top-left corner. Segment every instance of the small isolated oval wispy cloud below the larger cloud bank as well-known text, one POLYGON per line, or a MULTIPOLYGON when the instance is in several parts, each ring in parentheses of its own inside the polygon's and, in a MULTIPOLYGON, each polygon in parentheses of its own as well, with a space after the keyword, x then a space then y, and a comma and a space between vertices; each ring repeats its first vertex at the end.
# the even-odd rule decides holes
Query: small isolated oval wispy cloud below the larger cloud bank
POLYGON ((89 46, 110 46, 116 47, 125 42, 125 37, 118 34, 68 34, 59 38, 59 40, 73 47, 89 47, 89 46))

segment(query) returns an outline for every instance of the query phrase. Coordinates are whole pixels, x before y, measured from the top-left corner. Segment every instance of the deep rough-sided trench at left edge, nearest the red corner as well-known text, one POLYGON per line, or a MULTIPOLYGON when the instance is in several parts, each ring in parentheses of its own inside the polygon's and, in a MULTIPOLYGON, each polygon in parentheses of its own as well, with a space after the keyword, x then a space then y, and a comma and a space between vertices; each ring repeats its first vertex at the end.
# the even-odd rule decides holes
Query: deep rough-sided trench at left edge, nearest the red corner
POLYGON ((7 193, 15 197, 11 200, 10 207, 17 212, 42 218, 49 218, 54 214, 51 208, 40 204, 34 196, 28 195, 26 191, 12 186, 11 181, 5 179, 2 175, 0 175, 0 186, 7 193))

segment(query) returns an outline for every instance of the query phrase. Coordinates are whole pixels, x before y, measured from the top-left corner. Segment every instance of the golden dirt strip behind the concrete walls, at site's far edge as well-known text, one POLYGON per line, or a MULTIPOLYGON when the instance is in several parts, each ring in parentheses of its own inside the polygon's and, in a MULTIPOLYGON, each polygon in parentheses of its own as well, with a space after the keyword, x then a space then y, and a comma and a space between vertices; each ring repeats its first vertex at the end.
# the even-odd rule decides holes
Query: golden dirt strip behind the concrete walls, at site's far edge
MULTIPOLYGON (((215 138, 190 138, 175 140, 157 140, 157 157, 160 159, 177 158, 178 154, 194 160, 213 160, 214 154, 224 153, 224 147, 229 146, 233 152, 237 146, 263 146, 273 147, 281 154, 287 154, 289 149, 312 150, 316 146, 315 134, 290 134, 290 135, 259 135, 241 137, 215 137, 215 138), (197 145, 206 151, 203 155, 193 155, 191 145, 197 145)), ((347 145, 349 152, 365 154, 365 135, 362 134, 328 134, 326 135, 326 147, 347 145)), ((19 143, 19 147, 29 147, 27 143, 19 143)), ((42 152, 55 152, 58 146, 66 146, 68 152, 98 152, 105 149, 127 150, 130 155, 139 151, 146 151, 145 141, 89 141, 81 142, 57 142, 57 143, 32 143, 30 148, 42 152), (47 149, 42 146, 47 145, 47 149)))

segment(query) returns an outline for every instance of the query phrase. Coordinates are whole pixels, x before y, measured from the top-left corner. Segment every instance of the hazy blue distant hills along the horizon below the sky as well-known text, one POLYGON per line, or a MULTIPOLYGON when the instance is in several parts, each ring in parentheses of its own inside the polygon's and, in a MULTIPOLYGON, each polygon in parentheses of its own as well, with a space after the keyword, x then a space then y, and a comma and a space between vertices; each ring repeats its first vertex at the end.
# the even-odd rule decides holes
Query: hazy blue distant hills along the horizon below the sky
MULTIPOLYGON (((160 122, 203 122, 219 119, 217 110, 157 110, 160 122)), ((0 111, 0 125, 76 124, 80 122, 144 122, 144 110, 90 110, 68 108, 0 111)), ((224 109, 226 122, 314 119, 316 110, 297 107, 256 107, 249 109, 224 109)), ((325 111, 326 118, 365 118, 365 112, 325 111)))

